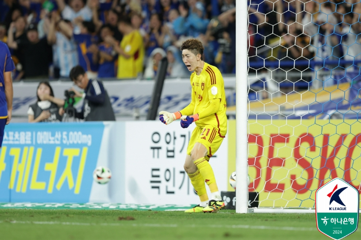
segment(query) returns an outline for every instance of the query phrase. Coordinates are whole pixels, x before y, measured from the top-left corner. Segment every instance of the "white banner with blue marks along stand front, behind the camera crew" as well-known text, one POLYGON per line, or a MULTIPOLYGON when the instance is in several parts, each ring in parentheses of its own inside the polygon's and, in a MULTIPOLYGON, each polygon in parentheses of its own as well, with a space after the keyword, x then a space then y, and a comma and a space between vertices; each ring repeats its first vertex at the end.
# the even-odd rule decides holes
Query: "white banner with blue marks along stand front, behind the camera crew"
MULTIPOLYGON (((139 109, 145 115, 153 94, 154 80, 114 80, 104 81, 113 110, 116 115, 132 115, 139 109)), ((13 115, 27 116, 29 105, 36 102, 38 82, 15 82, 13 115)), ((50 82, 56 98, 64 98, 64 91, 73 86, 72 82, 50 82)), ((235 77, 225 77, 227 103, 233 105, 235 77)), ((159 108, 167 111, 178 111, 191 101, 191 85, 187 79, 166 79, 163 86, 159 108)))

